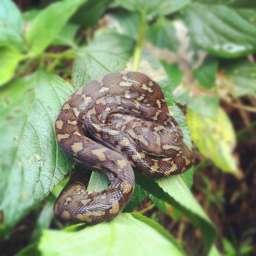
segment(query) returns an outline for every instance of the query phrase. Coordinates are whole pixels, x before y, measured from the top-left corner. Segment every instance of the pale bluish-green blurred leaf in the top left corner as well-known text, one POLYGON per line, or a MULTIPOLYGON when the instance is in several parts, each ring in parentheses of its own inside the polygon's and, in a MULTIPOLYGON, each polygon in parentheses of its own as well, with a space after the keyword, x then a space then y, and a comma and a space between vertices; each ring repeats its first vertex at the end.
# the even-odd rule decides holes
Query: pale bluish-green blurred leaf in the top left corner
POLYGON ((0 46, 24 50, 22 15, 11 0, 0 2, 0 46))

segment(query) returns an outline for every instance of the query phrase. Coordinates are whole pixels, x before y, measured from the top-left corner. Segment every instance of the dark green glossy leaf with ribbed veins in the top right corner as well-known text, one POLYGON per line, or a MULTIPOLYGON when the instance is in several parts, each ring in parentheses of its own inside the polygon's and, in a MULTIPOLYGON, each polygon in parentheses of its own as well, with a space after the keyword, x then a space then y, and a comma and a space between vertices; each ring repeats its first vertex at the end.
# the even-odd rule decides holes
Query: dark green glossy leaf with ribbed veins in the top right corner
POLYGON ((237 57, 256 50, 256 26, 249 14, 255 17, 256 10, 191 3, 184 10, 184 20, 201 48, 218 56, 237 57))

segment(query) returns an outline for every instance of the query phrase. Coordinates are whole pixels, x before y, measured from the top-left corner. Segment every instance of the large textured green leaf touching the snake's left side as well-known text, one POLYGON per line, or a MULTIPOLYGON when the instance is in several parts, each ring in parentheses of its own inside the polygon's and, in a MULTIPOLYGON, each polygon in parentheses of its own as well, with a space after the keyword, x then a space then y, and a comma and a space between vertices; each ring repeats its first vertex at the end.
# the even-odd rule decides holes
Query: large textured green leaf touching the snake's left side
POLYGON ((63 179, 72 161, 57 146, 56 116, 73 92, 65 80, 38 71, 0 89, 0 237, 63 179))

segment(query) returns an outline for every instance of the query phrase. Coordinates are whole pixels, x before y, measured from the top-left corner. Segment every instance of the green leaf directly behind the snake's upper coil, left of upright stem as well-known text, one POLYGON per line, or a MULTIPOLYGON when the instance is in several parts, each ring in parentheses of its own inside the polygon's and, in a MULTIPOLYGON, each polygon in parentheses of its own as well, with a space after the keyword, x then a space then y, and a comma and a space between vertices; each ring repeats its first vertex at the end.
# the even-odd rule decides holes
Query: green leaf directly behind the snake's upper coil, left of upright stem
POLYGON ((124 70, 132 56, 134 40, 114 31, 100 31, 87 47, 80 48, 74 62, 75 89, 105 74, 124 70))

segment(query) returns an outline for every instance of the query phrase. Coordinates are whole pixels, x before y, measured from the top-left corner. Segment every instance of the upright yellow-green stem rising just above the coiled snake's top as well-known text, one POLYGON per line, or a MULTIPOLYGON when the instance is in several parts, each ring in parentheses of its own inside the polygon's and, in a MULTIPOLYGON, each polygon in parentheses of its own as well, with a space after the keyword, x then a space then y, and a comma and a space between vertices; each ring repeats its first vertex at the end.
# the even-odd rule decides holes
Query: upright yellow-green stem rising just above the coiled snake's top
MULTIPOLYGON (((146 9, 145 9, 146 10, 146 9)), ((141 22, 139 27, 139 36, 135 47, 134 53, 134 62, 133 62, 133 71, 138 71, 141 57, 142 44, 145 37, 146 32, 146 12, 142 12, 141 14, 141 22)))

